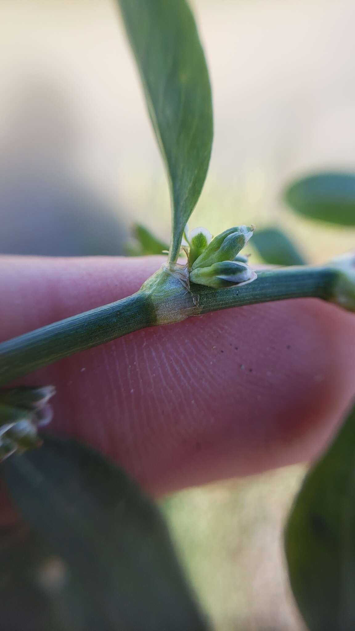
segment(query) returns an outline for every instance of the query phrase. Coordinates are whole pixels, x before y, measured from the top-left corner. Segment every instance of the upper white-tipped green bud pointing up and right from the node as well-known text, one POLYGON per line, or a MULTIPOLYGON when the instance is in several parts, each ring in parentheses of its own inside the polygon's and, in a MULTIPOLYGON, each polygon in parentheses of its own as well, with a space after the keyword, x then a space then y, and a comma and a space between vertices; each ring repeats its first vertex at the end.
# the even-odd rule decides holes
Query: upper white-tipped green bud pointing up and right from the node
POLYGON ((193 262, 191 269, 207 268, 221 261, 233 261, 248 243, 253 230, 253 226, 239 226, 221 232, 193 262))

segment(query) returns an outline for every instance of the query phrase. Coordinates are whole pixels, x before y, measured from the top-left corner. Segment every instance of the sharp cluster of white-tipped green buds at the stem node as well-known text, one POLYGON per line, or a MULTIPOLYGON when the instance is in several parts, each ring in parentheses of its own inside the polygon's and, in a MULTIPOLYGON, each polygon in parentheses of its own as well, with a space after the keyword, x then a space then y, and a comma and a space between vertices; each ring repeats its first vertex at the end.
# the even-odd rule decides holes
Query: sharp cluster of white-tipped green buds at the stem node
POLYGON ((253 235, 253 226, 229 228, 212 239, 205 228, 195 228, 186 240, 191 283, 215 288, 245 285, 255 280, 248 257, 239 254, 253 235))

